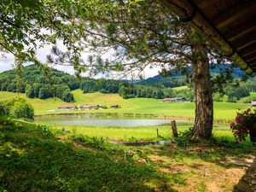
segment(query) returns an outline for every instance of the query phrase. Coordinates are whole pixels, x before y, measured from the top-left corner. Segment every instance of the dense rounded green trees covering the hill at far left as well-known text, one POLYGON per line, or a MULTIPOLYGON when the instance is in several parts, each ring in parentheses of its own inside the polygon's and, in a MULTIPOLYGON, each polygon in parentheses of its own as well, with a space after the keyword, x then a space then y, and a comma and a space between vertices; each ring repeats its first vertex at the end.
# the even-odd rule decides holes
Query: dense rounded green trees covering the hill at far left
POLYGON ((64 102, 73 102, 73 94, 71 90, 79 88, 79 79, 76 79, 68 73, 63 73, 49 69, 49 76, 44 74, 35 65, 24 67, 24 71, 20 79, 17 81, 15 77, 18 73, 15 70, 1 73, 0 89, 3 91, 25 92, 29 98, 47 99, 56 96, 64 102), (22 89, 18 90, 16 84, 20 84, 22 89))

